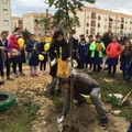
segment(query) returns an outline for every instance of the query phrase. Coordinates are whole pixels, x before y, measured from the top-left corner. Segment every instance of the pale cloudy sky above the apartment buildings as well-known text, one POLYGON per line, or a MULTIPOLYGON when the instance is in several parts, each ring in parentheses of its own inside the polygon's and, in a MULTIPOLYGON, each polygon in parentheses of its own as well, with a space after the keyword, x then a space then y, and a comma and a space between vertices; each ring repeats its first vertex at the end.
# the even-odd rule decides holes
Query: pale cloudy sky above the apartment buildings
MULTIPOLYGON (((132 0, 96 0, 95 4, 86 6, 132 15, 132 0)), ((21 16, 29 12, 43 13, 47 4, 44 0, 11 0, 11 8, 13 16, 21 16)), ((50 12, 54 14, 54 8, 50 9, 50 12)))

